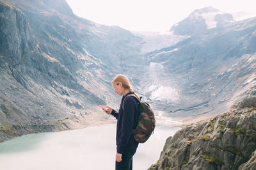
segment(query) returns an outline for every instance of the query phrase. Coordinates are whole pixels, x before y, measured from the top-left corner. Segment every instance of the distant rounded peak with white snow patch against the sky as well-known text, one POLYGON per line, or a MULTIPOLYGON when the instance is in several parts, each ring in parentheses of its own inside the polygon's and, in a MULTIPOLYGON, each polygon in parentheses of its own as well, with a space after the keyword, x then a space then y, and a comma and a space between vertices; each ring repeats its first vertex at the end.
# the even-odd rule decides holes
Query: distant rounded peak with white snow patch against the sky
POLYGON ((175 35, 199 35, 207 29, 234 23, 231 14, 223 13, 211 6, 195 10, 186 19, 174 24, 170 31, 175 35))

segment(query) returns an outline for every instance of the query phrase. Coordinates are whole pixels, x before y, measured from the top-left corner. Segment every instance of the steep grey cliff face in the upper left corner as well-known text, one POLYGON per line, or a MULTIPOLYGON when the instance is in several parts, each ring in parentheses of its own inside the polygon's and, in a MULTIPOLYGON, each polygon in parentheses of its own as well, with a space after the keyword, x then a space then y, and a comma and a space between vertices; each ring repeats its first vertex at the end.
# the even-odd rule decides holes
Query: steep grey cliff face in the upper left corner
POLYGON ((26 15, 10 4, 1 4, 0 52, 6 62, 17 65, 33 49, 33 38, 26 15))

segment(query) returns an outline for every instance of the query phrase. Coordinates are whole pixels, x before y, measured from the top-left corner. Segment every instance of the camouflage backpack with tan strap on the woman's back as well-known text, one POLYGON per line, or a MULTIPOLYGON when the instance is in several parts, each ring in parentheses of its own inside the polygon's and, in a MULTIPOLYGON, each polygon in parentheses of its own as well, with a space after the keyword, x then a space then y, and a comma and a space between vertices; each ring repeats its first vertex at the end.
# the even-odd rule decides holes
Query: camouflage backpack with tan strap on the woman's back
MULTIPOLYGON (((135 97, 135 95, 127 95, 127 97, 135 97)), ((127 98, 125 97, 125 98, 127 98)), ((124 101, 125 101, 124 98, 124 101)), ((138 100, 138 98, 136 98, 138 100)), ((150 135, 154 132, 156 126, 156 120, 154 116, 154 112, 150 108, 150 106, 146 102, 139 101, 139 120, 136 128, 132 130, 134 134, 134 139, 138 143, 145 143, 148 140, 150 135)), ((124 110, 124 102, 122 105, 122 109, 124 110)))

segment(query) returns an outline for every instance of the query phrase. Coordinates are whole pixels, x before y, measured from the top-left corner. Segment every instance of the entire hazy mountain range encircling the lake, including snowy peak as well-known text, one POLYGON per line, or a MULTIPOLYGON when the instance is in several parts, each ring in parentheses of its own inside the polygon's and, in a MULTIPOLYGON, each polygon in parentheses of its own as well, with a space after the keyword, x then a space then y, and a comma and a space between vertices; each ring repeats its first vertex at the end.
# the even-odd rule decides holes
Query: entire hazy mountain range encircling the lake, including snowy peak
POLYGON ((256 94, 255 17, 236 22, 211 7, 195 10, 172 27, 177 39, 155 38, 156 47, 77 17, 65 0, 1 0, 0 9, 1 141, 113 122, 97 107, 118 107, 117 73, 163 122, 220 114, 256 94))

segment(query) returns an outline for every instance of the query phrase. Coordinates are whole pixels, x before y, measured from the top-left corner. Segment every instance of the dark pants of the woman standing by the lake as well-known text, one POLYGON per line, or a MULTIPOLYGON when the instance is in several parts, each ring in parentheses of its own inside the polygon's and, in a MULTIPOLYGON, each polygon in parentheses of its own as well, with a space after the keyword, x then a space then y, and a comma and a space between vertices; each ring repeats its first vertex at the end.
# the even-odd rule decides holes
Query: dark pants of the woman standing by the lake
POLYGON ((132 170, 132 156, 136 150, 125 150, 122 154, 122 161, 116 162, 116 170, 132 170))

